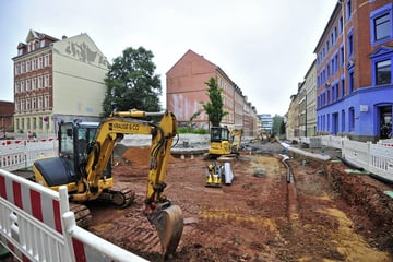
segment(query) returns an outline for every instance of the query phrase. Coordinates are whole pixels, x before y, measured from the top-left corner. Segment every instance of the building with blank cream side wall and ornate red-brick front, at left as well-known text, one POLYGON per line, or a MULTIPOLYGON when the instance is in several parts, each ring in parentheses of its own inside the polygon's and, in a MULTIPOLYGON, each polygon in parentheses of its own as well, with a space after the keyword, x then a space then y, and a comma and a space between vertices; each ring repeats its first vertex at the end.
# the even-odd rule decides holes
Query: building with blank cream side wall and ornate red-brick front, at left
POLYGON ((14 62, 15 132, 53 133, 60 121, 98 121, 108 61, 87 34, 31 29, 14 62))

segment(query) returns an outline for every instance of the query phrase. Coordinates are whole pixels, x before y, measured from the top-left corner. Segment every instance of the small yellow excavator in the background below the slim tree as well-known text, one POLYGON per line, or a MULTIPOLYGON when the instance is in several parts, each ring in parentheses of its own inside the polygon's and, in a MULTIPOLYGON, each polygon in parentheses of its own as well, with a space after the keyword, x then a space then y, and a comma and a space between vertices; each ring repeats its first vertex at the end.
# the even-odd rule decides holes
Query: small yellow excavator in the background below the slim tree
POLYGON ((242 130, 238 129, 229 131, 227 127, 212 127, 209 156, 239 156, 242 133, 242 130))

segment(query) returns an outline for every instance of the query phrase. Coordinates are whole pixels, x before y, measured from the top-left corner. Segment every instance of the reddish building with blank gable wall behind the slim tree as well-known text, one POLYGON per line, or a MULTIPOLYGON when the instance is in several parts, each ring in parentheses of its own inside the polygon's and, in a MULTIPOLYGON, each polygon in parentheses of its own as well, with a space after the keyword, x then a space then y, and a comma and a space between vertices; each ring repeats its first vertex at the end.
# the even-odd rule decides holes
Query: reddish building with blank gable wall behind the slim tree
POLYGON ((192 50, 188 50, 166 73, 167 108, 175 112, 180 124, 188 123, 195 112, 201 111, 193 123, 207 129, 207 115, 201 103, 209 102, 205 83, 211 78, 222 88, 223 109, 228 112, 222 124, 229 129, 243 129, 245 135, 254 135, 259 126, 255 107, 218 66, 192 50))

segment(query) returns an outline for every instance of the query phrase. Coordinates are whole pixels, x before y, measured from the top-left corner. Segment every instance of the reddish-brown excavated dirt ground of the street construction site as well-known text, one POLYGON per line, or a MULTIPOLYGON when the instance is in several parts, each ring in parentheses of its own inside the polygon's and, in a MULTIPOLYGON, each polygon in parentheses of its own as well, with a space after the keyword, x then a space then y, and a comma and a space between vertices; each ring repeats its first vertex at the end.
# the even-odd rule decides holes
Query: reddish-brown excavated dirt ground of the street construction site
MULTIPOLYGON (((343 163, 253 143, 230 162, 230 184, 205 187, 201 155, 171 156, 168 199, 181 207, 184 229, 168 261, 393 261, 391 184, 343 163), (258 153, 259 152, 259 153, 258 153), (261 153, 263 152, 263 153, 261 153)), ((148 147, 116 157, 116 184, 136 199, 126 209, 91 203, 88 230, 148 261, 162 261, 158 236, 143 214, 148 147)), ((318 150, 315 150, 318 151, 318 150)))

